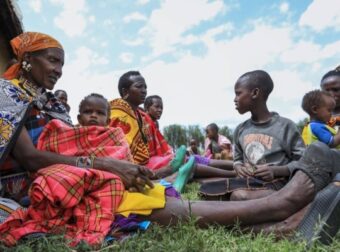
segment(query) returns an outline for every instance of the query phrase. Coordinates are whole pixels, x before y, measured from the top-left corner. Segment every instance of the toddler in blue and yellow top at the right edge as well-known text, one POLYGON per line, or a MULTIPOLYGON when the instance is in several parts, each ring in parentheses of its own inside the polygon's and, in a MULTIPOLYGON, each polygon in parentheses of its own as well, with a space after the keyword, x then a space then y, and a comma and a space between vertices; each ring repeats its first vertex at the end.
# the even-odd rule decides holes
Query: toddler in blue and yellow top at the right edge
POLYGON ((335 99, 328 92, 313 90, 304 95, 302 108, 310 119, 310 122, 302 131, 302 137, 306 145, 317 140, 331 148, 340 144, 340 134, 336 134, 336 130, 327 125, 335 106, 335 99))

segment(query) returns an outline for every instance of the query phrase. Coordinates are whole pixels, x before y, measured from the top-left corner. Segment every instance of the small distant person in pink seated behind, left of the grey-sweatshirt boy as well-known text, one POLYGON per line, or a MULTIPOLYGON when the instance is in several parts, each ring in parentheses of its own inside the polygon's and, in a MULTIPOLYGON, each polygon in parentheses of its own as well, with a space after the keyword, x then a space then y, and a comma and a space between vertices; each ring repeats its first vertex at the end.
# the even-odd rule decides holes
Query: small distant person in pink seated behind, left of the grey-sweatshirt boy
POLYGON ((206 139, 204 142, 204 156, 211 159, 233 159, 233 152, 230 140, 218 134, 218 126, 211 123, 206 128, 206 139))

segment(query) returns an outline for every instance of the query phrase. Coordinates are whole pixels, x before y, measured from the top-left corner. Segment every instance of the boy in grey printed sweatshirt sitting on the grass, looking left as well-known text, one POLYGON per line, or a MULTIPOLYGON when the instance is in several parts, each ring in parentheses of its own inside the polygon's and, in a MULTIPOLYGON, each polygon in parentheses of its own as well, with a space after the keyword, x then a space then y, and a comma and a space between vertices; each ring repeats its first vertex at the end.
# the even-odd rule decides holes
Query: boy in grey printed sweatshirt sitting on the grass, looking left
POLYGON ((287 164, 300 159, 304 151, 294 122, 267 108, 273 87, 271 77, 262 70, 243 74, 235 84, 236 109, 240 114, 250 112, 251 118, 234 132, 234 169, 245 179, 231 183, 231 200, 264 197, 282 188, 290 175, 287 164), (253 182, 263 190, 251 191, 253 182))

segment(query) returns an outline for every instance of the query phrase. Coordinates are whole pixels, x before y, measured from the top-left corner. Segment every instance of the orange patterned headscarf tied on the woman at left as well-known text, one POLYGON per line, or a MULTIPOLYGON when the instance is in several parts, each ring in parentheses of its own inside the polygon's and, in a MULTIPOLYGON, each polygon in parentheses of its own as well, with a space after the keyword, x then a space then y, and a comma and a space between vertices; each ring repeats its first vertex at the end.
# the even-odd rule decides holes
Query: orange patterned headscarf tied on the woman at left
POLYGON ((22 58, 26 52, 34 52, 47 48, 63 49, 62 45, 56 39, 39 32, 21 33, 12 39, 10 43, 18 62, 9 67, 3 74, 3 77, 8 80, 14 79, 18 76, 22 58))

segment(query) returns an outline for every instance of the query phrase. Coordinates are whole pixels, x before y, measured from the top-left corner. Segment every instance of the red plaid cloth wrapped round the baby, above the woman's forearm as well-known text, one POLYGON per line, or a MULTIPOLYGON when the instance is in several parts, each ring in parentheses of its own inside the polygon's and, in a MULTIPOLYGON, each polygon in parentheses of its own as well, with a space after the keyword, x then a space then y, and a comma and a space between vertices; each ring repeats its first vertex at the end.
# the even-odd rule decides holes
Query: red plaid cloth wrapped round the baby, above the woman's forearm
POLYGON ((72 127, 52 120, 41 133, 37 148, 66 156, 112 157, 132 161, 129 145, 120 128, 72 127))

